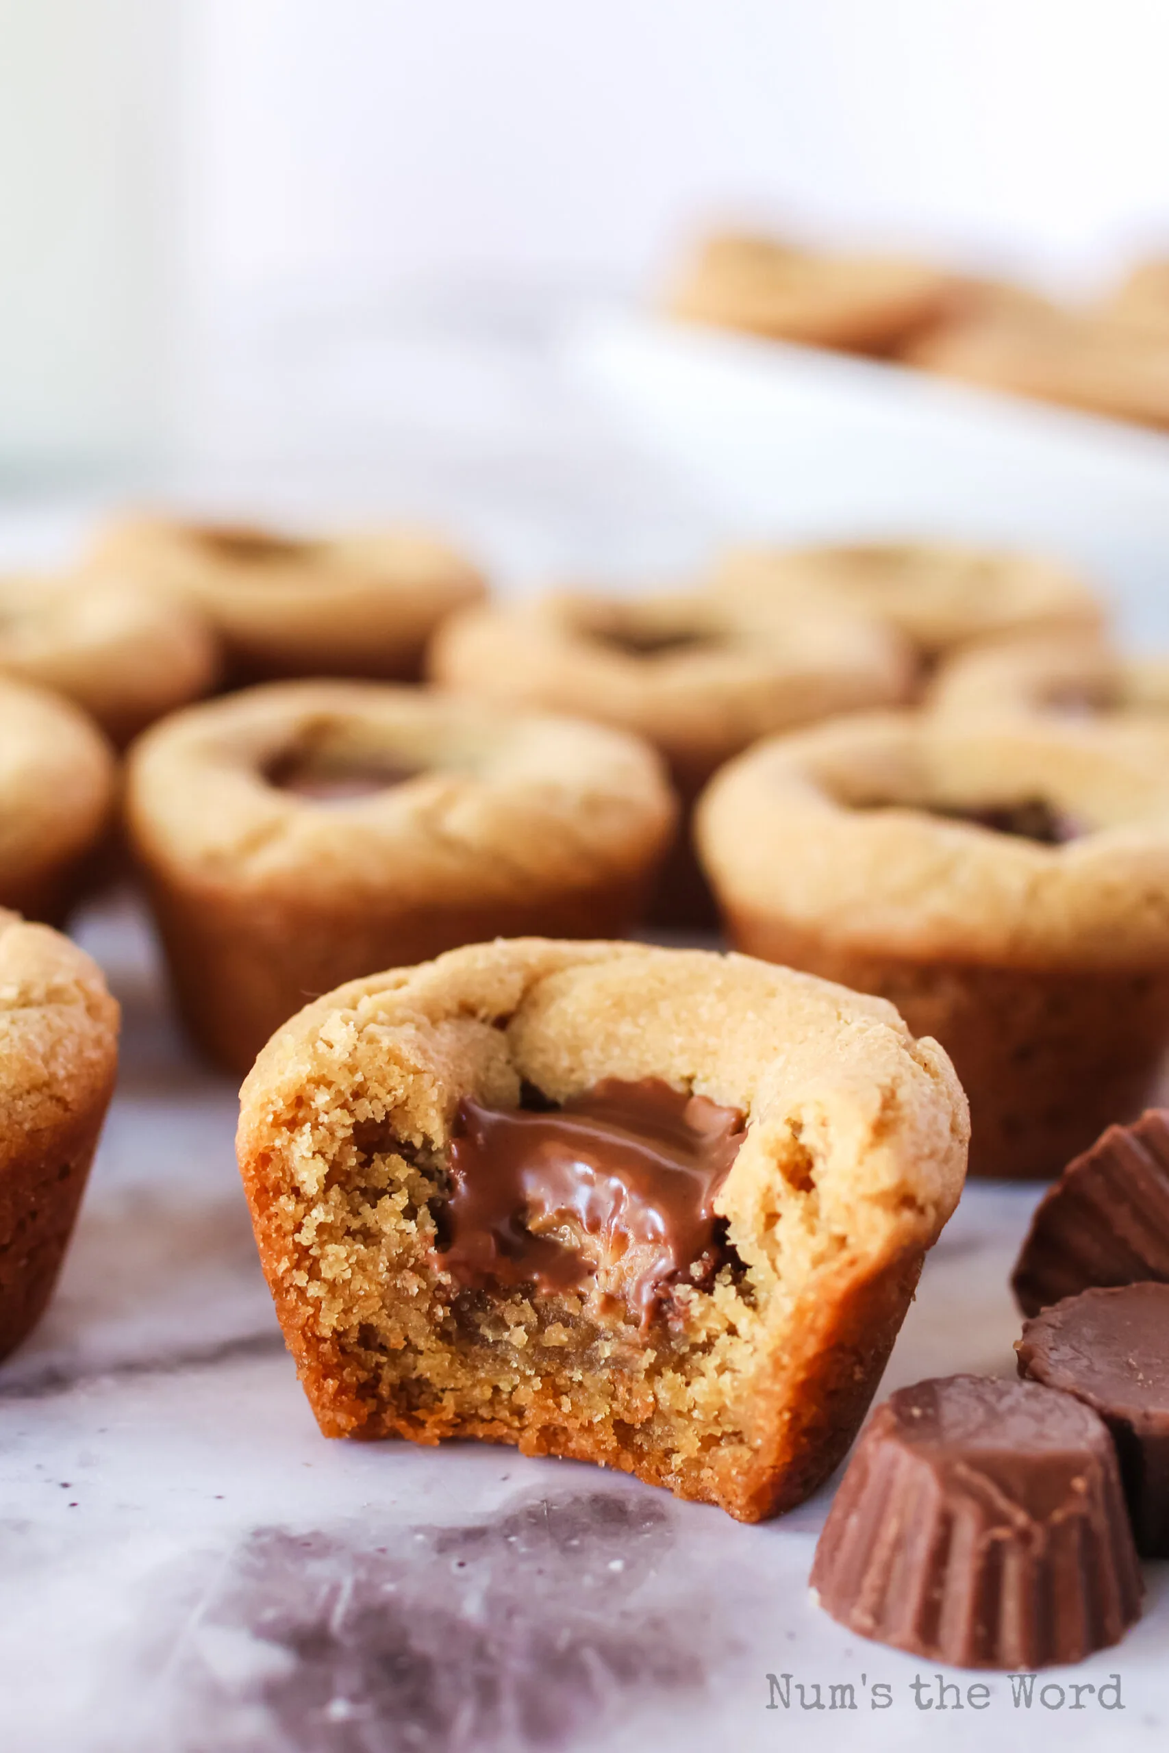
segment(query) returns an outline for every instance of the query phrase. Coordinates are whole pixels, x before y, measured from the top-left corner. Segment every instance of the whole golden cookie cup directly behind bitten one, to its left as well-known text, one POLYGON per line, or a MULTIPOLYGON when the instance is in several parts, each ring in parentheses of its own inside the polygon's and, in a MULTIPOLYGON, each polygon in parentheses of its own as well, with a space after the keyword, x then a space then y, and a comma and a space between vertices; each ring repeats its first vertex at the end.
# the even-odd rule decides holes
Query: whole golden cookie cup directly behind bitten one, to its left
POLYGON ((636 738, 379 684, 249 689, 130 757, 179 1004, 240 1073, 340 980, 496 934, 627 929, 673 822, 636 738))

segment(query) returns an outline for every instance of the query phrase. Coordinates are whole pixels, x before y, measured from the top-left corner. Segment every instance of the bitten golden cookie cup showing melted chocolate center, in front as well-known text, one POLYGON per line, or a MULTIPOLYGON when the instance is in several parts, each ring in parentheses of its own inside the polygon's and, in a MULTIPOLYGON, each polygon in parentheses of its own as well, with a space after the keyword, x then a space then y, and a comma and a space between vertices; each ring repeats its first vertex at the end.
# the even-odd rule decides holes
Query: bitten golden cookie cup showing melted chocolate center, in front
POLYGON ((890 1006, 738 955, 514 940, 319 999, 238 1159, 326 1436, 815 1488, 953 1210, 966 1103, 890 1006))

